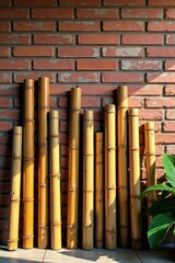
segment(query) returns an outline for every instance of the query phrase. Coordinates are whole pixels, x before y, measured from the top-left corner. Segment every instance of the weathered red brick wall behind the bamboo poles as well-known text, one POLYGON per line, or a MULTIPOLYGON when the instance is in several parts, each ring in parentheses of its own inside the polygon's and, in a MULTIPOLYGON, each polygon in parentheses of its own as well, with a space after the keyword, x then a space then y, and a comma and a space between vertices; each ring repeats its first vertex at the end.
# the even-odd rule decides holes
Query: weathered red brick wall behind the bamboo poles
POLYGON ((50 106, 60 111, 65 231, 70 89, 82 88, 82 106, 96 111, 101 130, 104 105, 127 84, 129 106, 140 110, 140 140, 142 124, 155 123, 162 175, 162 153, 175 148, 174 31, 173 0, 0 1, 0 243, 8 233, 11 130, 22 124, 23 80, 48 76, 50 106))

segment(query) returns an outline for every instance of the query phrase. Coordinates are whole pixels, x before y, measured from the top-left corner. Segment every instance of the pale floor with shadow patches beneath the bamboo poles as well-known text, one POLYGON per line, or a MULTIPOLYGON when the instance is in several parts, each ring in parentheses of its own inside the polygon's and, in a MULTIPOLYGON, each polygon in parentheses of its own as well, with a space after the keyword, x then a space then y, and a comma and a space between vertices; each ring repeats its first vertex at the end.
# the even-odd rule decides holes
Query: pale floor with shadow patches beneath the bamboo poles
POLYGON ((19 249, 16 251, 7 251, 0 247, 0 263, 30 263, 30 262, 57 262, 57 263, 175 263, 175 249, 164 248, 156 251, 133 251, 117 249, 108 251, 104 249, 94 249, 85 251, 81 249, 60 251, 32 249, 19 249))

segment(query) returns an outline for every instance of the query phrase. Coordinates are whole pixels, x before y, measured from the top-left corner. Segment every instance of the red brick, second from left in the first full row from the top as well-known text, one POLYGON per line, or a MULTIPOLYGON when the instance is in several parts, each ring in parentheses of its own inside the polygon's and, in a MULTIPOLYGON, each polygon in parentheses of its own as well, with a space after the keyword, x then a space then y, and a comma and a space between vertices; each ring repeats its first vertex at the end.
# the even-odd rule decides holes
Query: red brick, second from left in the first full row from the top
POLYGON ((73 19, 73 9, 33 9, 34 19, 73 19))

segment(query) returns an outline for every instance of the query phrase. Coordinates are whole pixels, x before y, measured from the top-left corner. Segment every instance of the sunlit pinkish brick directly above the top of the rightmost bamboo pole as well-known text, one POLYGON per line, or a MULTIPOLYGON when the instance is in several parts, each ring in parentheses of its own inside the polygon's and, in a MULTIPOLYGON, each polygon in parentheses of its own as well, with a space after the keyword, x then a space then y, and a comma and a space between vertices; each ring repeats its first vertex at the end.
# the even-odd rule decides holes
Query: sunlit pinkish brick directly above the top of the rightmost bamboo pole
POLYGON ((139 119, 142 121, 161 121, 164 118, 163 110, 149 110, 149 108, 140 108, 139 110, 139 119))

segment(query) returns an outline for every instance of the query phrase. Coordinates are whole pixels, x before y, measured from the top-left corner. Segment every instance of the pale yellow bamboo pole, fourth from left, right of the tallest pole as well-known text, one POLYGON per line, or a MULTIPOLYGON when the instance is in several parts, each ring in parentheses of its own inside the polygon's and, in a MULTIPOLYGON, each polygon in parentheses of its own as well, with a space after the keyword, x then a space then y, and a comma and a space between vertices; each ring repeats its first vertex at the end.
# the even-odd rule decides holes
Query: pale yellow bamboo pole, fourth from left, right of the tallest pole
POLYGON ((61 249, 61 196, 59 162, 59 112, 49 113, 49 175, 51 249, 61 249))

